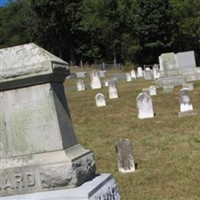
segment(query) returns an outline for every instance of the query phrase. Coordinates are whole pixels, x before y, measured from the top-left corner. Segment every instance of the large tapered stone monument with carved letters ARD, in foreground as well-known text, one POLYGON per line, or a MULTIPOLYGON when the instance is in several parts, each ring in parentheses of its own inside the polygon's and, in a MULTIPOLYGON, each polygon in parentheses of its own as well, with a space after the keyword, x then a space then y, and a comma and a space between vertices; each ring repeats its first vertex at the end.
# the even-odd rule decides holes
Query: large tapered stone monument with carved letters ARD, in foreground
POLYGON ((1 199, 40 200, 95 180, 93 154, 77 143, 64 94, 68 64, 33 43, 0 49, 0 58, 1 199))

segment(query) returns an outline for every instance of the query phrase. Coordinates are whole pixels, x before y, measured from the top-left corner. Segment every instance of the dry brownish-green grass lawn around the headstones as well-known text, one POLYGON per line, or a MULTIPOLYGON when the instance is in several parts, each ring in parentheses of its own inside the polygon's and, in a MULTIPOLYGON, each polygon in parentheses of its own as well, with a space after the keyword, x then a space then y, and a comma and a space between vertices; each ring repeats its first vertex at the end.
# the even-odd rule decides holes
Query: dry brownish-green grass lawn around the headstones
POLYGON ((78 142, 93 151, 97 173, 113 174, 122 200, 200 199, 200 81, 190 92, 196 116, 178 117, 181 87, 175 87, 172 93, 158 89, 152 97, 155 117, 139 120, 136 97, 154 81, 120 81, 119 98, 110 100, 105 87, 76 91, 76 80, 67 79, 65 91, 78 142), (99 92, 106 107, 96 107, 99 92), (120 138, 133 144, 134 173, 118 172, 115 142, 120 138))

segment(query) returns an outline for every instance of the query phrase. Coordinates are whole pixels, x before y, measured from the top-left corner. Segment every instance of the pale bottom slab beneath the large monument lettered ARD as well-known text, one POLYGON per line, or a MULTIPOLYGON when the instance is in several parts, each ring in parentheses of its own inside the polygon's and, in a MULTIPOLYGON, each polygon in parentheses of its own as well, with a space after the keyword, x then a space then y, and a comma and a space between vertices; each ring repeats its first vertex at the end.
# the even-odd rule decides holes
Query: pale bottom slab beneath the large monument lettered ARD
POLYGON ((1 197, 1 200, 120 200, 115 180, 111 174, 101 174, 83 185, 56 191, 1 197))

